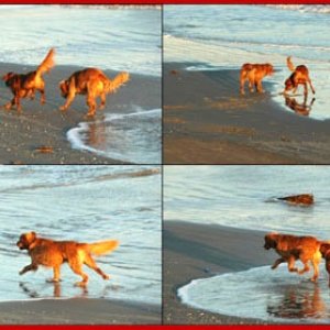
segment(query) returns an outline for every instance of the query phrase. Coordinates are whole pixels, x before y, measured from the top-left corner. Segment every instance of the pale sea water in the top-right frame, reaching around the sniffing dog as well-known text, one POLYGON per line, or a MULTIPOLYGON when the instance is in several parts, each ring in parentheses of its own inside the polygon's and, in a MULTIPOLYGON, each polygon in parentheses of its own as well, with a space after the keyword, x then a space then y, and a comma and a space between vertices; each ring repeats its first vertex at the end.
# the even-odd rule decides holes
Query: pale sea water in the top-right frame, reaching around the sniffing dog
MULTIPOLYGON (((194 63, 188 69, 239 69, 243 63, 271 62, 276 73, 274 100, 290 112, 283 96, 284 81, 290 75, 286 57, 305 64, 316 89, 309 118, 330 118, 330 23, 327 6, 165 6, 165 62, 194 63), (197 65, 196 65, 197 64, 197 65)), ((239 88, 238 88, 239 90, 239 88)), ((304 106, 302 88, 296 101, 304 106)), ((312 100, 311 92, 305 106, 312 100)), ((294 113, 294 112, 293 112, 294 113)))

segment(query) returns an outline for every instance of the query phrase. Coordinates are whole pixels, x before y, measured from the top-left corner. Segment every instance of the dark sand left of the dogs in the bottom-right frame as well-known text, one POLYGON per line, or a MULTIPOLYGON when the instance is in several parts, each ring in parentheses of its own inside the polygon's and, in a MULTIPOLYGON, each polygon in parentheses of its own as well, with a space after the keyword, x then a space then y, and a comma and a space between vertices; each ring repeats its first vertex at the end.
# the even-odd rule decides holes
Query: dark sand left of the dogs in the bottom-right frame
POLYGON ((177 289, 191 279, 271 265, 276 254, 263 249, 263 232, 165 221, 163 242, 165 324, 265 323, 190 308, 176 295, 177 289))

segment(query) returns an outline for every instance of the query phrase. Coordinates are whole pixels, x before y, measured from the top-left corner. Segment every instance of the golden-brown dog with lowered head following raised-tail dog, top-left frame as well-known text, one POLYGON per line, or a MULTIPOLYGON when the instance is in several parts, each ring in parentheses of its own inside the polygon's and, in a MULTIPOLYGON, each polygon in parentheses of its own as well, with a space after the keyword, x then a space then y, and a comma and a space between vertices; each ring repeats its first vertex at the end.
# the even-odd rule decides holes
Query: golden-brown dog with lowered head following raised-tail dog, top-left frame
POLYGON ((120 86, 130 79, 128 73, 120 73, 113 80, 110 80, 100 69, 86 68, 74 73, 68 79, 59 82, 62 96, 66 102, 61 110, 67 110, 76 94, 87 95, 88 117, 94 117, 97 108, 96 98, 101 98, 100 109, 106 106, 106 96, 114 92, 120 86))

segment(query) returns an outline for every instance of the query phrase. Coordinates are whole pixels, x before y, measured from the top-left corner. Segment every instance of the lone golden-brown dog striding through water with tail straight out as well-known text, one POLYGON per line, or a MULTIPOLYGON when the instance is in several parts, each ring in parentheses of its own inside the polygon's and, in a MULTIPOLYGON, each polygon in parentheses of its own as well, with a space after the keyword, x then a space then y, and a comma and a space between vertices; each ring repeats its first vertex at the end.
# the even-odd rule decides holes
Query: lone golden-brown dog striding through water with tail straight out
POLYGON ((88 276, 81 270, 82 264, 96 271, 103 279, 109 279, 96 264, 91 254, 101 255, 113 251, 119 242, 116 240, 98 243, 78 243, 75 241, 53 241, 38 238, 35 232, 23 233, 16 245, 21 250, 28 250, 31 256, 31 264, 25 266, 20 275, 29 271, 36 271, 38 265, 53 267, 54 277, 52 282, 59 282, 61 265, 67 262, 74 273, 82 277, 76 285, 86 286, 88 276))

